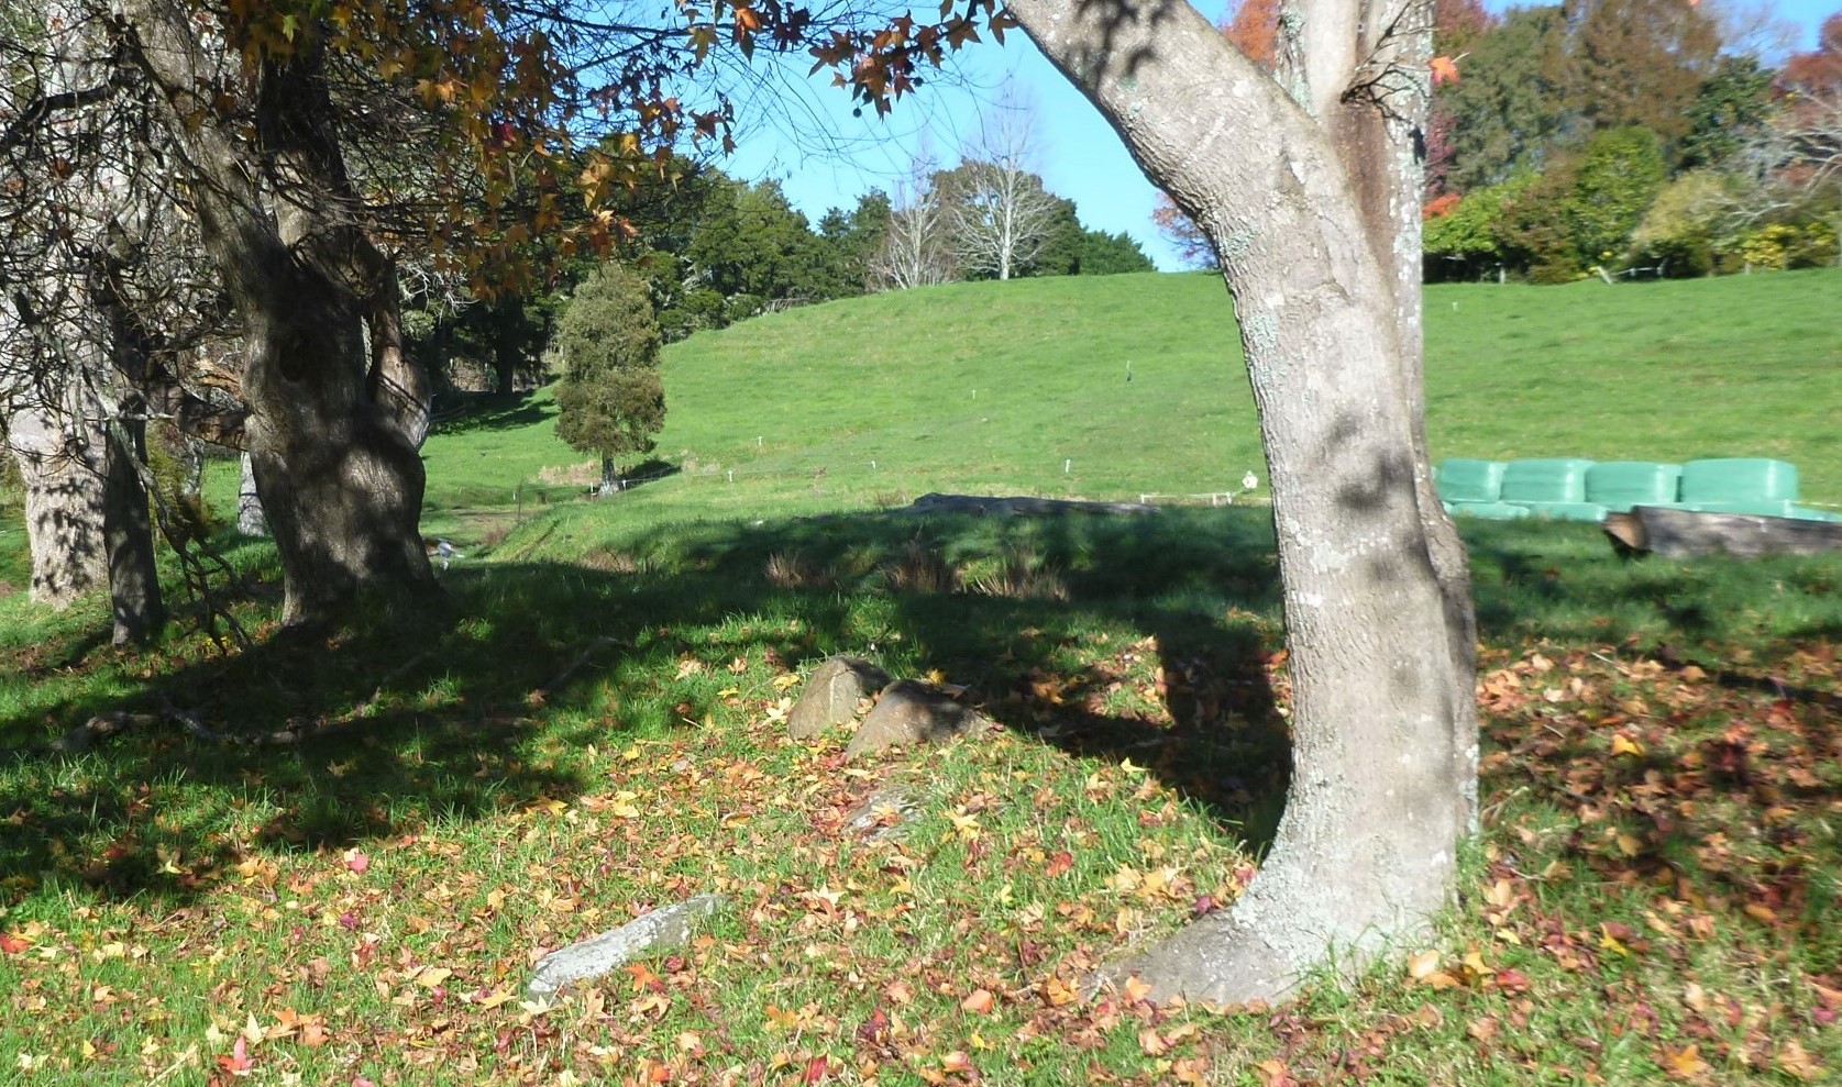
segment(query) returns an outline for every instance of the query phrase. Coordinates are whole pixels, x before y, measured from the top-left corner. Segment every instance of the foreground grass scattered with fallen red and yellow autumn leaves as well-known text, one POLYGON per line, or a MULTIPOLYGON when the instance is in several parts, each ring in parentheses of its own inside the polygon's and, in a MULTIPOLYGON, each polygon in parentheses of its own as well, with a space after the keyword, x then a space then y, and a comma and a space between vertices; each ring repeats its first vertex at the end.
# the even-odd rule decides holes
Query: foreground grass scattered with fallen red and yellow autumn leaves
MULTIPOLYGON (((1089 1000, 1081 982, 1253 875, 1284 781, 1282 731, 1254 728, 1288 702, 1271 632, 1229 660, 1133 615, 1055 626, 1015 621, 1028 602, 945 604, 1009 625, 978 647, 985 671, 943 639, 895 652, 969 682, 1009 731, 923 757, 847 765, 842 735, 788 742, 794 663, 818 647, 757 601, 619 632, 650 656, 571 684, 553 680, 582 637, 495 615, 503 645, 551 654, 534 672, 505 661, 438 706, 381 700, 418 709, 273 761, 214 770, 171 735, 125 735, 7 766, 20 801, 0 820, 53 846, 6 871, 0 1067, 96 1083, 1835 1074, 1842 752, 1820 636, 1486 647, 1485 835, 1459 908, 1398 964, 1221 1013, 1133 984, 1089 1000), (470 713, 494 728, 455 720, 470 713), (125 781, 147 765, 173 772, 125 781), (849 816, 895 768, 919 801, 903 836, 869 842, 849 816), (451 809, 396 794, 462 796, 440 783, 475 776, 516 785, 451 809), (330 820, 284 781, 363 811, 330 820), (59 790, 98 814, 31 800, 59 790), (682 951, 525 1000, 545 951, 702 892, 731 906, 682 951)), ((864 614, 880 639, 899 612, 864 614)), ((361 700, 376 682, 344 687, 361 700)))

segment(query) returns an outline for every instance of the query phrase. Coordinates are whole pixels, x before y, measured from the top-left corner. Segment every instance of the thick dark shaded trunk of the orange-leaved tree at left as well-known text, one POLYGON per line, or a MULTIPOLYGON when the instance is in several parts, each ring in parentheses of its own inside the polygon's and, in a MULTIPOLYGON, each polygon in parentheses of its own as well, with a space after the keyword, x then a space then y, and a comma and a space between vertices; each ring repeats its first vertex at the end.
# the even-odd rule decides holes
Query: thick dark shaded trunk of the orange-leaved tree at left
POLYGON ((284 623, 330 619, 368 590, 433 591, 416 455, 429 387, 402 350, 394 267, 361 228, 321 53, 302 37, 293 57, 241 72, 184 4, 120 9, 243 319, 245 444, 282 556, 284 623), (254 144, 214 101, 221 87, 245 94, 254 144))

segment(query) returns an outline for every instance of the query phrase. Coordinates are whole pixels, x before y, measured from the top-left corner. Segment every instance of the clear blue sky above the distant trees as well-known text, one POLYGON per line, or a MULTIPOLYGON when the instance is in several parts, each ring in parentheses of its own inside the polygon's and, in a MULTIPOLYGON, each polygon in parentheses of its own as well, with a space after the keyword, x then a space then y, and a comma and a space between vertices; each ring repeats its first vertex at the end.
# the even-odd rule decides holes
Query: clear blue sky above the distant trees
MULTIPOLYGON (((1499 0, 1486 6, 1507 7, 1499 0)), ((1801 29, 1798 48, 1811 48, 1816 26, 1842 9, 1842 0, 1776 0, 1770 7, 1801 29)), ((1225 2, 1201 9, 1216 18, 1225 2)), ((1151 227, 1157 190, 1107 122, 1020 31, 1006 35, 1004 46, 985 42, 967 50, 952 77, 904 98, 888 118, 868 111, 851 116, 845 92, 827 87, 827 76, 807 81, 803 68, 796 63, 781 72, 781 87, 764 94, 759 109, 739 103, 737 153, 720 166, 748 181, 777 179, 814 223, 827 208, 855 206, 871 188, 893 192, 923 147, 941 166, 952 166, 960 146, 976 136, 980 111, 993 109, 1009 81, 1033 103, 1035 169, 1048 190, 1072 199, 1089 228, 1131 234, 1159 267, 1177 267, 1175 252, 1151 227)))

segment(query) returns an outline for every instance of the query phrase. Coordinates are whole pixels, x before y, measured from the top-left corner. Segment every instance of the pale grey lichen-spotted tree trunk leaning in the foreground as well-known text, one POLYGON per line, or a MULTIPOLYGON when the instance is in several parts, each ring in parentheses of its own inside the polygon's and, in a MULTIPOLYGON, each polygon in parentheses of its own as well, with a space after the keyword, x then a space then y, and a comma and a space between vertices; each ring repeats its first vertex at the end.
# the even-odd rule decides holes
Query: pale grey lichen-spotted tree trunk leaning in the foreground
POLYGON ((1424 929, 1468 822, 1470 610, 1428 488, 1405 276, 1424 31, 1389 37, 1400 9, 1365 22, 1328 0, 1297 20, 1275 79, 1186 4, 1009 11, 1219 252, 1273 481, 1286 814, 1234 908, 1118 969, 1159 993, 1282 997, 1332 956, 1350 967, 1424 929))

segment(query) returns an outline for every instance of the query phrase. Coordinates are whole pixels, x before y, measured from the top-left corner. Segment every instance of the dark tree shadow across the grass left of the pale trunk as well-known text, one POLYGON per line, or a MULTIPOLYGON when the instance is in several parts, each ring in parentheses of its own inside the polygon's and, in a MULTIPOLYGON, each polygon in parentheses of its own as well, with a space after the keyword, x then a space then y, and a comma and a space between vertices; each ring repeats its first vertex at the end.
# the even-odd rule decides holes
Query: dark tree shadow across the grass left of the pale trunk
POLYGON ((1271 529, 1223 514, 705 523, 635 538, 632 569, 457 567, 433 614, 269 637, 147 678, 131 678, 142 658, 77 654, 76 667, 109 669, 109 682, 0 715, 0 744, 39 748, 0 755, 0 901, 42 879, 184 901, 251 849, 344 849, 567 801, 591 787, 573 752, 724 713, 720 665, 748 654, 939 667, 998 722, 1133 759, 1216 818, 1271 835, 1288 772, 1262 667, 1273 626, 1256 619, 1277 601, 1271 529), (1061 599, 890 591, 890 564, 917 542, 960 567, 1028 551, 1061 599), (788 553, 825 575, 785 584, 768 558, 788 553), (1151 654, 1160 669, 1148 680, 1151 654), (709 667, 683 680, 687 658, 709 667), (42 750, 114 711, 149 720, 83 754, 42 750), (304 739, 219 744, 175 711, 223 733, 304 739), (251 805, 271 811, 254 833, 251 805))

